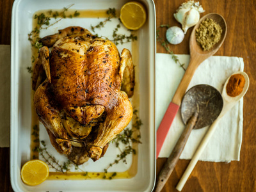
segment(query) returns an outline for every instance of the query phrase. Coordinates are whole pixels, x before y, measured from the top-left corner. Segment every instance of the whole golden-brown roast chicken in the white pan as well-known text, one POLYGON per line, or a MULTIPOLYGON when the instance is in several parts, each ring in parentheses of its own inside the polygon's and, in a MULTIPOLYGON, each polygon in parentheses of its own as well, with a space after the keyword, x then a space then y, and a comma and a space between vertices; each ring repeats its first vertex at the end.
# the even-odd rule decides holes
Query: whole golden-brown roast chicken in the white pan
POLYGON ((58 152, 76 164, 97 161, 132 118, 131 53, 120 56, 113 42, 80 27, 40 42, 32 77, 38 118, 58 152))

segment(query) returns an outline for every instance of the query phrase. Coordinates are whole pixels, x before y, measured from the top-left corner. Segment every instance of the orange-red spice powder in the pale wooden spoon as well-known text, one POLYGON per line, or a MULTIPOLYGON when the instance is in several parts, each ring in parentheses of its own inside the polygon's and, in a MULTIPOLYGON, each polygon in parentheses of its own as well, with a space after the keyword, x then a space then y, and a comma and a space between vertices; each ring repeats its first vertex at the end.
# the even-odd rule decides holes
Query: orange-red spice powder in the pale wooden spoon
POLYGON ((241 74, 235 74, 230 77, 227 84, 227 94, 230 97, 236 97, 243 92, 245 79, 241 74))

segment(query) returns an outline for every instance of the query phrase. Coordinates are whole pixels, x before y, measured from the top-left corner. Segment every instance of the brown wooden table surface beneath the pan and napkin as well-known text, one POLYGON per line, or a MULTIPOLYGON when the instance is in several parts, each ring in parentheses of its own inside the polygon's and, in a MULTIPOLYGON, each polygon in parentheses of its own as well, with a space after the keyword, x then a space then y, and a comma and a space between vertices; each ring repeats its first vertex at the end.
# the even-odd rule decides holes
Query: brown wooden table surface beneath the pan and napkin
MULTIPOLYGON (((156 21, 179 26, 173 13, 184 0, 155 0, 156 21)), ((0 44, 10 45, 13 0, 0 1, 0 44)), ((255 100, 256 79, 256 3, 255 0, 202 0, 205 13, 220 13, 227 21, 227 38, 215 55, 238 56, 244 59, 244 71, 250 77, 250 88, 244 97, 243 144, 240 161, 211 163, 199 161, 182 191, 256 191, 256 132, 255 100)), ((170 45, 175 54, 189 54, 191 28, 179 45, 170 45)), ((164 35, 164 33, 162 33, 164 35)), ((157 52, 165 52, 157 43, 157 52)), ((13 191, 10 184, 10 149, 0 148, 0 191, 13 191)), ((166 161, 157 159, 157 173, 166 161)), ((163 191, 176 191, 188 160, 179 160, 163 191)))

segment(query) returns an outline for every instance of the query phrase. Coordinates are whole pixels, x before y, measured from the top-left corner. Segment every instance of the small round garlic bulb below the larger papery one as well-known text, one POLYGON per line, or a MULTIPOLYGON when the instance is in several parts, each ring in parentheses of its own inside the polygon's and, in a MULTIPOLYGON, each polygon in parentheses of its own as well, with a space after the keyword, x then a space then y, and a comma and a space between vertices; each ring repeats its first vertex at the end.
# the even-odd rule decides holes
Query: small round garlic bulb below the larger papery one
POLYGON ((184 39, 184 32, 179 27, 173 26, 172 28, 167 29, 166 39, 170 44, 180 44, 184 39))

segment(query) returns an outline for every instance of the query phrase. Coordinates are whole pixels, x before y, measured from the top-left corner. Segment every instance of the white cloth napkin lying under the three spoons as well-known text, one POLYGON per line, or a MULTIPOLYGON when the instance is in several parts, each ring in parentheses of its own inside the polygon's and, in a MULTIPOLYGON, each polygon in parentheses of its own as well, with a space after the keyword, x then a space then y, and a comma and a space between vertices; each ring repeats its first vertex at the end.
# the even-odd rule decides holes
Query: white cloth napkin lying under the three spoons
MULTIPOLYGON (((189 55, 177 55, 181 63, 188 67, 189 55)), ((196 84, 209 84, 222 92, 223 84, 234 72, 244 69, 243 58, 211 56, 196 69, 189 88, 196 84)), ((170 54, 157 53, 156 56, 156 123, 161 123, 163 115, 171 102, 184 70, 172 60, 170 54)), ((159 157, 168 157, 185 125, 178 111, 168 132, 159 157)), ((180 159, 191 159, 204 137, 208 127, 192 130, 180 159)), ((243 99, 221 118, 216 132, 200 157, 201 161, 239 161, 243 137, 243 99)))

